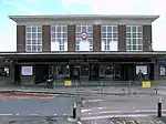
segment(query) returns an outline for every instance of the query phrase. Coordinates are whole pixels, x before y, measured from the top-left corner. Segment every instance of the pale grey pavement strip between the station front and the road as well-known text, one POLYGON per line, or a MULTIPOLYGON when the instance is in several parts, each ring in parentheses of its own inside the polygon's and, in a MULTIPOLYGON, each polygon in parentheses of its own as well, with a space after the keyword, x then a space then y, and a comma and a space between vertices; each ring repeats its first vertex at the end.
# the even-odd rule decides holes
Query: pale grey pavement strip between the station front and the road
POLYGON ((63 86, 63 87, 53 87, 53 89, 45 89, 43 86, 38 85, 8 85, 8 86, 0 86, 0 92, 45 92, 45 93, 59 93, 59 94, 73 94, 73 95, 92 95, 92 94, 107 94, 107 95, 166 95, 166 89, 159 89, 156 93, 156 89, 144 89, 142 86, 135 86, 128 89, 126 86, 90 86, 90 87, 75 87, 75 86, 63 86))

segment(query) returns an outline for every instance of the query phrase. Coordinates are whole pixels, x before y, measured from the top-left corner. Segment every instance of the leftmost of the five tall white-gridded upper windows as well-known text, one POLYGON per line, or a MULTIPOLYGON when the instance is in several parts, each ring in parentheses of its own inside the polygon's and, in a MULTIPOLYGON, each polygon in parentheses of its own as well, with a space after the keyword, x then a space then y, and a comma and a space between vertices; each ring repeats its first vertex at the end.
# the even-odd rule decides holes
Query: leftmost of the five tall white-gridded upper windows
POLYGON ((25 51, 42 52, 42 25, 28 25, 25 28, 25 51))

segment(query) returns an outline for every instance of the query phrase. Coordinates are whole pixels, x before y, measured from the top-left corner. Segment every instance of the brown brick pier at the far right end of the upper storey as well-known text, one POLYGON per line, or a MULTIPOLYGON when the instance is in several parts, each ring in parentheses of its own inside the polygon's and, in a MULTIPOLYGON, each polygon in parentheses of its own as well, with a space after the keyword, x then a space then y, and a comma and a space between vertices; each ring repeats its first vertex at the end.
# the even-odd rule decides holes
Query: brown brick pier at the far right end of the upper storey
POLYGON ((152 51, 152 25, 143 25, 143 51, 152 51))

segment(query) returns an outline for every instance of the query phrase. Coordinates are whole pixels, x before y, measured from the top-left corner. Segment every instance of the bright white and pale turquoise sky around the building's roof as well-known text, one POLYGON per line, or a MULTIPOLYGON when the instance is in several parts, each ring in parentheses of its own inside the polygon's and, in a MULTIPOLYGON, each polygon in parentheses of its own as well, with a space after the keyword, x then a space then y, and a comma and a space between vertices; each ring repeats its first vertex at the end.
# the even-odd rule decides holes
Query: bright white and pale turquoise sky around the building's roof
POLYGON ((159 14, 153 22, 153 49, 165 51, 166 0, 0 0, 0 51, 17 50, 17 23, 8 16, 159 14))

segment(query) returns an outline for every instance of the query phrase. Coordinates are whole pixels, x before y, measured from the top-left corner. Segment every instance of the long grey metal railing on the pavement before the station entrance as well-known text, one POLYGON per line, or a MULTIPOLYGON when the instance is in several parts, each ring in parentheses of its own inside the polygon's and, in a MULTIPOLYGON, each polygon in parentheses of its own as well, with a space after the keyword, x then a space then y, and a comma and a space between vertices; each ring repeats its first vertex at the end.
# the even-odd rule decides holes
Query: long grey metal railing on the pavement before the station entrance
POLYGON ((54 87, 56 92, 72 92, 75 94, 158 94, 158 85, 155 81, 65 81, 56 80, 54 87), (143 83, 146 85, 143 86, 143 83), (148 84, 148 85, 147 85, 148 84), (149 85, 151 84, 151 85, 149 85))

